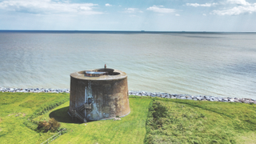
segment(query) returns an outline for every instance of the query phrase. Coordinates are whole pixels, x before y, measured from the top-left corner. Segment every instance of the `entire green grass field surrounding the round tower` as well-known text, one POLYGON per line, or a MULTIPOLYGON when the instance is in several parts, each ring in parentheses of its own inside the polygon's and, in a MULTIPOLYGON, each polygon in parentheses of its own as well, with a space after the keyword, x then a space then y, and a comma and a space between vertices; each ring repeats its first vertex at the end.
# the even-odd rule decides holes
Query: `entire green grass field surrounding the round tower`
POLYGON ((40 143, 54 134, 34 131, 28 118, 55 118, 67 129, 51 143, 256 143, 256 105, 130 96, 131 112, 121 121, 85 125, 72 122, 68 100, 69 94, 0 93, 0 143, 40 143))

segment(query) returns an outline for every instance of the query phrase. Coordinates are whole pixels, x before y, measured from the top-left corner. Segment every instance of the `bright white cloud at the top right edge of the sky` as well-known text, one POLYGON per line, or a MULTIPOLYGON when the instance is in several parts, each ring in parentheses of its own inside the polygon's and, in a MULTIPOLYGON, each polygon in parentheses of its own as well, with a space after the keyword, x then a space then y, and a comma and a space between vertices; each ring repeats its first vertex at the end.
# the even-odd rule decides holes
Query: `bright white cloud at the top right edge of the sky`
POLYGON ((235 6, 227 10, 213 10, 212 14, 218 15, 238 15, 238 14, 252 14, 256 12, 256 3, 250 6, 235 6))

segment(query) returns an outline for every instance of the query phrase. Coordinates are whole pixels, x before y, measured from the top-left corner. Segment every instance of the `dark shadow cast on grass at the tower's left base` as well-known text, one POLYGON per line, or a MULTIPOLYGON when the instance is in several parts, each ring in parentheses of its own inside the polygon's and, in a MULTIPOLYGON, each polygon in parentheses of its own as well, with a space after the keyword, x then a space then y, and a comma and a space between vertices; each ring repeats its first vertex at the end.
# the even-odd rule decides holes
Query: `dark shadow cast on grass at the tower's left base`
POLYGON ((64 123, 77 123, 80 124, 82 122, 80 122, 79 120, 75 121, 72 120, 72 118, 70 117, 69 114, 67 114, 67 111, 69 110, 69 106, 63 107, 61 109, 58 110, 54 110, 53 112, 51 112, 49 114, 50 118, 54 118, 56 121, 58 122, 64 122, 64 123))

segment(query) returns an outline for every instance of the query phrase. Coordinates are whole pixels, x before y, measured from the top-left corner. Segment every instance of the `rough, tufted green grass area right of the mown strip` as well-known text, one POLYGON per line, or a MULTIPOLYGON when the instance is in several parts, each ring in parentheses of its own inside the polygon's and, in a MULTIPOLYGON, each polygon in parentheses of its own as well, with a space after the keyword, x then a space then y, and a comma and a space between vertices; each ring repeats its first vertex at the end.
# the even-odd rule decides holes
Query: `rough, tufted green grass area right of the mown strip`
POLYGON ((146 143, 256 142, 254 105, 154 99, 146 122, 146 143))

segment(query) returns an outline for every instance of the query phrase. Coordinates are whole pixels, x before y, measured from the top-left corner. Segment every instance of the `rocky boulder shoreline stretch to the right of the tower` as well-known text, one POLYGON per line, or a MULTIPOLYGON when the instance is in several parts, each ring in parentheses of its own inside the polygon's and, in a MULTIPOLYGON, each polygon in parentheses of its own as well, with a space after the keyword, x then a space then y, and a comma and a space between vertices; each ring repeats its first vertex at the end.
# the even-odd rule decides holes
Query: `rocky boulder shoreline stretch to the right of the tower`
POLYGON ((190 94, 168 94, 168 93, 150 93, 145 91, 129 91, 129 95, 137 96, 150 96, 150 97, 159 97, 159 98, 178 98, 178 99, 187 99, 194 101, 212 101, 212 102, 243 102, 256 104, 256 99, 252 98, 222 98, 214 97, 207 95, 190 95, 190 94))

